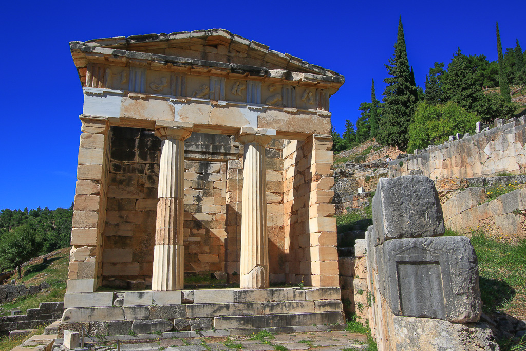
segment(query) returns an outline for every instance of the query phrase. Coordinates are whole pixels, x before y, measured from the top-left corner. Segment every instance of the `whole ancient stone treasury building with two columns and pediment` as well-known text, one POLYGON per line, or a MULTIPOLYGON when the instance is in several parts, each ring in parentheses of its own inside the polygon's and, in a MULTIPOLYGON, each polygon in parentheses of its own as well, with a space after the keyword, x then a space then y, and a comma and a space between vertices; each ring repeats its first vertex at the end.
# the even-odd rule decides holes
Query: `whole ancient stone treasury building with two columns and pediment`
POLYGON ((342 324, 329 98, 343 76, 222 29, 70 47, 84 109, 60 328, 342 324), (211 274, 228 287, 192 284, 211 274))

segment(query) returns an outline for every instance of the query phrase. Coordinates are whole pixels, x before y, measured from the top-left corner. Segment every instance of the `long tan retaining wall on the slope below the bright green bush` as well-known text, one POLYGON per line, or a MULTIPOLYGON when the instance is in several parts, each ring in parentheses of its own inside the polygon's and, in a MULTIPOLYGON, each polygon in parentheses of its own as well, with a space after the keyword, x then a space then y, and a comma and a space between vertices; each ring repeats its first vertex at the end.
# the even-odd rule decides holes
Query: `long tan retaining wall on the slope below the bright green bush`
POLYGON ((416 169, 431 179, 526 172, 526 117, 497 122, 500 126, 391 161, 390 177, 410 175, 416 169))

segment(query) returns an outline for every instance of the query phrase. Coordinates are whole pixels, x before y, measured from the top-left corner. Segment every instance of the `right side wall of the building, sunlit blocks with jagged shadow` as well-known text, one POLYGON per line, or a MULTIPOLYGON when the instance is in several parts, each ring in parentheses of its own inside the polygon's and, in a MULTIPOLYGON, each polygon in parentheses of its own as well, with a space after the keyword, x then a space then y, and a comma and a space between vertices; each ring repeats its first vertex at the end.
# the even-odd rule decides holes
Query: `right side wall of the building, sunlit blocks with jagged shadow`
POLYGON ((339 286, 331 146, 330 136, 315 134, 284 148, 288 283, 339 286))

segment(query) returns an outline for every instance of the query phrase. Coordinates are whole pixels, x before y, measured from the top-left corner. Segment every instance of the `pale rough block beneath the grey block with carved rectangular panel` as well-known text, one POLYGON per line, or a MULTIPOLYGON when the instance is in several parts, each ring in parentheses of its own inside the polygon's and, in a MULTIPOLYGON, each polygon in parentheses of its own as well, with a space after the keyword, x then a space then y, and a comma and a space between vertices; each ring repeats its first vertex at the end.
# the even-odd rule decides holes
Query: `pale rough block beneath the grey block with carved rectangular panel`
POLYGON ((395 316, 393 348, 397 350, 493 351, 499 349, 491 329, 483 323, 455 324, 446 320, 395 316))

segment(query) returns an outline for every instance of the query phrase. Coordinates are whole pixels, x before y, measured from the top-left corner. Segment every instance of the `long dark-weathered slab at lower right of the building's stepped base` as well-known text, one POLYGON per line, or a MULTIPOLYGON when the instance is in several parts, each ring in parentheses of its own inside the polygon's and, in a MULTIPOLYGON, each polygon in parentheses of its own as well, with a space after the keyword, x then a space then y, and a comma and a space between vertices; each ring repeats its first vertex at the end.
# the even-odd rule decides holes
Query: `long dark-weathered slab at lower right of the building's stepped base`
POLYGON ((216 329, 319 326, 345 323, 342 312, 214 317, 216 329))

